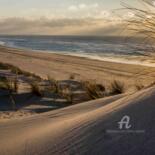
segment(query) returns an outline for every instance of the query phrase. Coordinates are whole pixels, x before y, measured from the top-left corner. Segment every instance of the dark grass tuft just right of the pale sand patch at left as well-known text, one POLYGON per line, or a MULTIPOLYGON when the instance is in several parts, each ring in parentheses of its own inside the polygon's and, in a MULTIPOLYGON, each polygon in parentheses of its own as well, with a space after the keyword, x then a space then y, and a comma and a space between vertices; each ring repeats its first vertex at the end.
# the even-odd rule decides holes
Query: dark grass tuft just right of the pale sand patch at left
POLYGON ((42 97, 43 92, 38 82, 30 82, 31 93, 35 96, 42 97))

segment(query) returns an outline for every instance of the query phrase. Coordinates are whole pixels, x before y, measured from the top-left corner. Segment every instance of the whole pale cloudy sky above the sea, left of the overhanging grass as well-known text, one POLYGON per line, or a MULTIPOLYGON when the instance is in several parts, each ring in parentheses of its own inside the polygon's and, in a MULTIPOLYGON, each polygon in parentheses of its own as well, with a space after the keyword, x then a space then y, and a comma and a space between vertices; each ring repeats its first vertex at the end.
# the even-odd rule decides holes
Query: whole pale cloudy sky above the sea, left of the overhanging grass
POLYGON ((120 22, 113 12, 119 8, 120 0, 0 0, 0 34, 113 34, 120 22))

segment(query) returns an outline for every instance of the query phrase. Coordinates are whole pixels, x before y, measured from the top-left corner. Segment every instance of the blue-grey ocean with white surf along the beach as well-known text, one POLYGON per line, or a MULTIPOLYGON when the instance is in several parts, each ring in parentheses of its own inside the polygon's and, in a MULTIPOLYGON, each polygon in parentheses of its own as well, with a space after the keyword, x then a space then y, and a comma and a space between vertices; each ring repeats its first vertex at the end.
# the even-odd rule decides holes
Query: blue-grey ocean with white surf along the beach
POLYGON ((51 52, 98 60, 141 63, 147 60, 140 39, 94 36, 0 36, 0 44, 32 51, 51 52), (146 58, 146 59, 145 59, 146 58))

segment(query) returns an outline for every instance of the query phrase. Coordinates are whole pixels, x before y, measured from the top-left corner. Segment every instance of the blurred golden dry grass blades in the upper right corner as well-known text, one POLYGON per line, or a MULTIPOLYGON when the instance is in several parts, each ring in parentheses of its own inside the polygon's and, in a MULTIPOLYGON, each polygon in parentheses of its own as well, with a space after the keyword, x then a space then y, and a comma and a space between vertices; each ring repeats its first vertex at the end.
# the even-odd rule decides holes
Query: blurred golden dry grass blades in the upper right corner
POLYGON ((132 18, 126 19, 126 29, 133 32, 134 36, 141 36, 141 43, 144 46, 137 46, 137 51, 145 51, 145 55, 150 55, 155 51, 155 4, 153 0, 138 2, 137 7, 122 3, 124 8, 121 10, 133 14, 132 18))

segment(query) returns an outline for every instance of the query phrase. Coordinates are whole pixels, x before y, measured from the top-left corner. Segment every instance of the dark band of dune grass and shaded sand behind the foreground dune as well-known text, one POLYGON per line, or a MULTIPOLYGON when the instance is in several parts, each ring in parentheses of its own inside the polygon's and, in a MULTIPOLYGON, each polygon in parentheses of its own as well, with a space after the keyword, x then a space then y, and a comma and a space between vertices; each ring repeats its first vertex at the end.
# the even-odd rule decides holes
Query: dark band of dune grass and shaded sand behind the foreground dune
MULTIPOLYGON (((51 100, 51 104, 62 100, 68 106, 123 94, 127 91, 126 83, 117 79, 106 84, 95 80, 75 80, 75 75, 66 80, 56 80, 49 75, 46 79, 42 79, 34 73, 25 72, 5 63, 0 63, 0 71, 4 72, 4 74, 0 74, 0 98, 7 95, 12 109, 16 109, 16 100, 22 94, 29 94, 30 98, 36 96, 38 99, 40 98, 40 101, 42 99, 51 100)), ((146 88, 140 82, 135 83, 134 87, 136 91, 146 88)))

